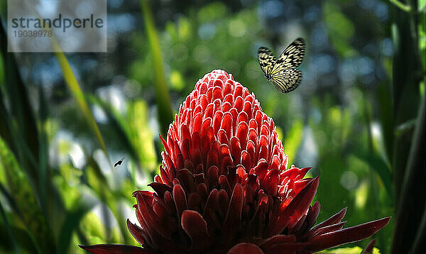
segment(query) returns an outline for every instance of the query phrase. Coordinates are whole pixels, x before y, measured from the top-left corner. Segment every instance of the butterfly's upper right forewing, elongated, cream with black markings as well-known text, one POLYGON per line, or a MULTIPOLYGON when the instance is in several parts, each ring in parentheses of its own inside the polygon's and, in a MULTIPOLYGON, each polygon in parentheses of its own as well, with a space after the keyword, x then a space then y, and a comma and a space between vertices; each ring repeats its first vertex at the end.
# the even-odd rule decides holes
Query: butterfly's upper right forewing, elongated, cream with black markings
POLYGON ((275 61, 271 74, 280 72, 281 68, 294 69, 298 67, 303 57, 305 57, 305 40, 297 38, 281 53, 278 60, 275 61))

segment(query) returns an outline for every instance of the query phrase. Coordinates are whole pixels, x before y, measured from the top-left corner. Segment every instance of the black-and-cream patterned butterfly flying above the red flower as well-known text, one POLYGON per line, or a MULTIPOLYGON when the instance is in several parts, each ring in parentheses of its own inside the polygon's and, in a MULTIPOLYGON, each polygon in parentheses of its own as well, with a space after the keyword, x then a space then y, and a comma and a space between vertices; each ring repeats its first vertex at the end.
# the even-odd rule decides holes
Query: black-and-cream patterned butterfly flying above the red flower
POLYGON ((305 56, 305 40, 297 38, 281 53, 278 60, 272 51, 261 47, 258 49, 258 60, 266 79, 272 82, 278 92, 288 93, 296 89, 302 81, 302 72, 296 67, 305 56))

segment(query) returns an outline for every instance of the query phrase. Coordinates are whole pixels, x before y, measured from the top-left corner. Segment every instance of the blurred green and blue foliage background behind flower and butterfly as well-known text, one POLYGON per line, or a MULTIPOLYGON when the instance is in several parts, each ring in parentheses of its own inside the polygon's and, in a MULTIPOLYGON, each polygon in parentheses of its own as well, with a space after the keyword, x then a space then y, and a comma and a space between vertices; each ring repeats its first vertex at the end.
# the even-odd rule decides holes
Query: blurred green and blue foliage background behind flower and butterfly
POLYGON ((107 53, 7 53, 6 1, 0 14, 1 253, 136 245, 131 193, 149 189, 158 135, 214 69, 256 94, 290 164, 320 175, 317 221, 348 206, 346 226, 393 216, 376 234, 382 253, 422 242, 425 0, 108 0, 107 53), (280 94, 257 50, 298 37, 302 84, 280 94))

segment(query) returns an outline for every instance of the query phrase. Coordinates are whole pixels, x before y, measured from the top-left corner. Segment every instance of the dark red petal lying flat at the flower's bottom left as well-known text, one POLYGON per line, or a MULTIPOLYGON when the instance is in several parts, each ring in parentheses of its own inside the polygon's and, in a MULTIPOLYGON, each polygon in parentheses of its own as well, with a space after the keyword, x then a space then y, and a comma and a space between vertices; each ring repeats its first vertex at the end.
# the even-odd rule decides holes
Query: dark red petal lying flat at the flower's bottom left
POLYGON ((155 254, 152 250, 121 244, 79 245, 79 247, 94 254, 155 254))

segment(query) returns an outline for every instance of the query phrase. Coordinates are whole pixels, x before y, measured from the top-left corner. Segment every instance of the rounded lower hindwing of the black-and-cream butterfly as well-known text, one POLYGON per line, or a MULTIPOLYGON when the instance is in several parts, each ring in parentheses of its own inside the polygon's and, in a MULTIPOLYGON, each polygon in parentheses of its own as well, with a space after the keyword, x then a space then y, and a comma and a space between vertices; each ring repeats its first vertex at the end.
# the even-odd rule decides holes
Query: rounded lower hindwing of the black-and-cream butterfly
POLYGON ((271 82, 278 92, 288 93, 296 89, 302 81, 302 72, 297 69, 283 69, 271 76, 271 82))

